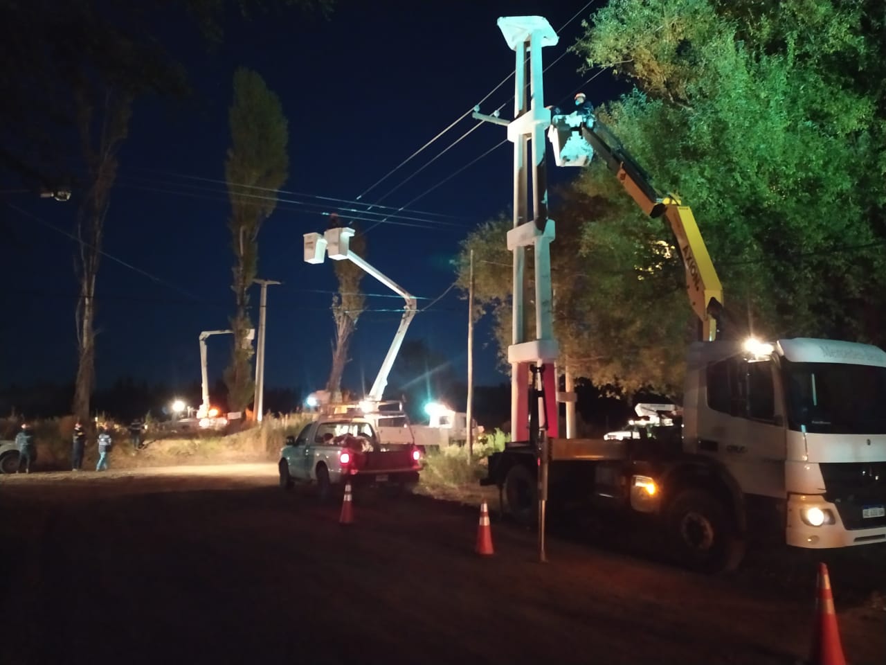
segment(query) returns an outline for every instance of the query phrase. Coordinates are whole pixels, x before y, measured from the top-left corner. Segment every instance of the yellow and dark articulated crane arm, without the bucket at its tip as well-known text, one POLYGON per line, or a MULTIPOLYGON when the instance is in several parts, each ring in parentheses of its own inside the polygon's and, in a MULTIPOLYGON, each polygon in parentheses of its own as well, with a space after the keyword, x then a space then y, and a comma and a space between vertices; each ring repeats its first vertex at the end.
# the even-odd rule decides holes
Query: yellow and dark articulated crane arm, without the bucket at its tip
POLYGON ((615 171, 618 181, 641 210, 653 218, 664 216, 671 225, 686 269, 689 303, 702 322, 703 340, 714 340, 723 312, 723 286, 692 209, 670 194, 659 194, 649 183, 649 175, 602 122, 588 117, 581 123, 580 131, 587 144, 615 171))

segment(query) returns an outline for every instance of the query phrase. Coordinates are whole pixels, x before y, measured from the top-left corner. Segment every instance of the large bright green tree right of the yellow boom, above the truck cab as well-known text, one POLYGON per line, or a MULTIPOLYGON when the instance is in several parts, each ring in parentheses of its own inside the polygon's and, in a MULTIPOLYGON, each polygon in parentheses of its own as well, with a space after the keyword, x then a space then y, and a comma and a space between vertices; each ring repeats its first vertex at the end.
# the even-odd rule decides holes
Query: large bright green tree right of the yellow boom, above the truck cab
MULTIPOLYGON (((846 66, 872 49, 861 12, 619 0, 579 42, 588 65, 617 66, 635 83, 602 114, 660 188, 691 203, 727 307, 731 294, 733 313, 750 312, 766 335, 881 334, 860 316, 883 286, 882 221, 880 231, 871 223, 883 193, 865 186, 882 164, 882 118, 864 74, 846 66)), ((587 191, 609 196, 601 176, 592 169, 587 191)))

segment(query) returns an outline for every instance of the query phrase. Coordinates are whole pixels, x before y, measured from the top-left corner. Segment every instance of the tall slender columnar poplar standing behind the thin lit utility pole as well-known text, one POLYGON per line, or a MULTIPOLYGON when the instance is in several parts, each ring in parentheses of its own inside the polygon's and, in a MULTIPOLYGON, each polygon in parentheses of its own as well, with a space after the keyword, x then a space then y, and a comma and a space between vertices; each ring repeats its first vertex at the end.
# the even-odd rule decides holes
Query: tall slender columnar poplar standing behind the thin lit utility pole
POLYGON ((280 99, 268 90, 261 76, 245 67, 234 73, 234 102, 230 106, 231 147, 225 162, 231 215, 228 228, 235 262, 233 271, 235 314, 230 319, 234 347, 225 371, 229 408, 243 411, 253 395, 250 359, 253 348, 248 333, 249 287, 257 275, 259 231, 274 212, 276 191, 289 176, 288 123, 280 99), (255 199, 253 192, 266 192, 255 199))

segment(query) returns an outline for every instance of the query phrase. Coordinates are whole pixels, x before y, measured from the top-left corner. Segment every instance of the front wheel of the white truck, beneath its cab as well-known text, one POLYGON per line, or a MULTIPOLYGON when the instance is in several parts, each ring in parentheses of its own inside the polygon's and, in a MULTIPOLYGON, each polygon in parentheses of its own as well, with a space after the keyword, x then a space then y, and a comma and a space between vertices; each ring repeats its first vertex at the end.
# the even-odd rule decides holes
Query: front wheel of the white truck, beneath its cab
POLYGON ((684 567, 703 573, 734 570, 744 555, 726 506, 704 489, 684 489, 665 512, 672 554, 684 567))

